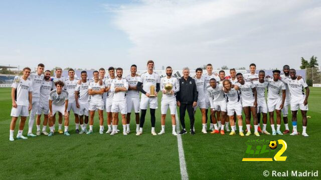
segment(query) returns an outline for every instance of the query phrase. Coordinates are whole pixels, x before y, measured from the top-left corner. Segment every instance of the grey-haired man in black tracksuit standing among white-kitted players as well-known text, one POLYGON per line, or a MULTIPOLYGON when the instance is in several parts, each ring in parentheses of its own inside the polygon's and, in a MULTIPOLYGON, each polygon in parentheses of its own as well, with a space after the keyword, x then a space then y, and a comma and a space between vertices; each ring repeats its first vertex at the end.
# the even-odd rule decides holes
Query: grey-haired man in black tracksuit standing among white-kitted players
POLYGON ((194 127, 194 107, 197 104, 197 87, 195 80, 190 77, 190 69, 188 67, 183 68, 183 77, 180 78, 180 91, 176 94, 177 105, 180 107, 180 120, 182 125, 182 131, 180 134, 186 133, 185 128, 185 111, 190 117, 191 121, 191 134, 195 134, 194 127))

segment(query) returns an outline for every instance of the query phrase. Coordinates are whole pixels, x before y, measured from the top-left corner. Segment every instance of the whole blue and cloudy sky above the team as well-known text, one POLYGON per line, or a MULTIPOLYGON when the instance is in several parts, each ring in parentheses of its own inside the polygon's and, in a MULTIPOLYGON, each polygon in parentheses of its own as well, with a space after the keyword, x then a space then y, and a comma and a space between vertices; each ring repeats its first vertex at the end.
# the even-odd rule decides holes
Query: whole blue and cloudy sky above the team
POLYGON ((2 0, 0 22, 0 65, 20 68, 280 69, 321 58, 320 0, 2 0))

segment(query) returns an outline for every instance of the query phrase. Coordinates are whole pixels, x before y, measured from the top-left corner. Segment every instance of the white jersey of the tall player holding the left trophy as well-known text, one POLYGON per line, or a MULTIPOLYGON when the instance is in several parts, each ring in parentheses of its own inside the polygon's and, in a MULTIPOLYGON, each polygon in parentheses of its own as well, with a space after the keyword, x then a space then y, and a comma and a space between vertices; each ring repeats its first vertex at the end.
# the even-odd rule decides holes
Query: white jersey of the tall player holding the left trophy
POLYGON ((149 88, 151 85, 154 85, 156 90, 156 83, 159 83, 159 81, 161 81, 161 76, 159 76, 159 74, 156 72, 152 72, 151 74, 149 74, 146 71, 142 73, 139 78, 139 82, 142 83, 142 89, 147 93, 150 93, 149 88))

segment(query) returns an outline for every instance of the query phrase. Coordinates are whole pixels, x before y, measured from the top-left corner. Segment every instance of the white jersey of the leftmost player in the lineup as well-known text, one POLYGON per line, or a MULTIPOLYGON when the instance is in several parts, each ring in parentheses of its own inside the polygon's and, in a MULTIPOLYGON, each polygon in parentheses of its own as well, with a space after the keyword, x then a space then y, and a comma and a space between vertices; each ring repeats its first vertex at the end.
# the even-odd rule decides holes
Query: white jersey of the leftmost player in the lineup
POLYGON ((29 92, 33 91, 32 81, 20 77, 19 81, 14 81, 11 87, 16 88, 15 100, 17 105, 29 105, 29 92))

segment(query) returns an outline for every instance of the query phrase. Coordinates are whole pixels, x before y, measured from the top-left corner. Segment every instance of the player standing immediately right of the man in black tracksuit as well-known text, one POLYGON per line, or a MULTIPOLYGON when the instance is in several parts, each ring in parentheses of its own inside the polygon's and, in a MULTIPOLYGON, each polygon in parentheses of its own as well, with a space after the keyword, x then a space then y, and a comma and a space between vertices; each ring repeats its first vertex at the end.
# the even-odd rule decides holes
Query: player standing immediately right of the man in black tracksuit
POLYGON ((194 114, 196 113, 196 108, 199 107, 202 112, 202 132, 207 133, 207 125, 206 125, 206 100, 205 100, 205 83, 204 78, 202 77, 203 69, 197 68, 195 70, 196 75, 194 78, 197 91, 198 91, 198 97, 197 97, 197 105, 194 107, 194 114))

